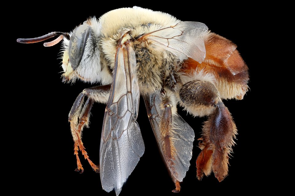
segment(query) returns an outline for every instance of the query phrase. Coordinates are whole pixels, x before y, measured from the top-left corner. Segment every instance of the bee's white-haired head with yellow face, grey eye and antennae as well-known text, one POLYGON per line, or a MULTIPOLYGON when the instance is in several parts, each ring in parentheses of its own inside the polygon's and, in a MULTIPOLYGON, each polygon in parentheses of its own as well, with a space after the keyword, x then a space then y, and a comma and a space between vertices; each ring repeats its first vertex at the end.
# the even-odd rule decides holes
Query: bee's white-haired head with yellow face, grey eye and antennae
POLYGON ((76 79, 91 83, 111 81, 108 68, 103 67, 100 63, 100 23, 95 17, 77 26, 70 33, 51 32, 37 38, 18 39, 17 42, 36 43, 58 35, 57 39, 44 43, 44 46, 53 46, 63 40, 63 82, 74 82, 76 79), (102 71, 104 74, 101 73, 102 71))

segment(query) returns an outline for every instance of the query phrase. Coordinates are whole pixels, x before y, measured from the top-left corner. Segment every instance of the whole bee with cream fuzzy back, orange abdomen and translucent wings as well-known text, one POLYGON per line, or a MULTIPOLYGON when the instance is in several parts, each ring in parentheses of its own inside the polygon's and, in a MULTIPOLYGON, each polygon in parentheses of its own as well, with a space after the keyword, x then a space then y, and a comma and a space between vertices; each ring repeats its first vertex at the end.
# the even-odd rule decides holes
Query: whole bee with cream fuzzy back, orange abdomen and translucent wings
POLYGON ((69 112, 77 169, 78 152, 100 173, 104 190, 120 194, 124 182, 144 154, 136 122, 139 98, 144 98, 160 152, 180 191, 192 157, 194 130, 177 113, 177 105, 193 116, 208 116, 197 178, 212 171, 218 181, 228 173, 237 128, 223 99, 243 99, 248 91, 248 67, 230 40, 210 32, 200 22, 180 21, 140 7, 115 9, 98 20, 89 18, 73 32, 51 32, 19 43, 63 42, 64 82, 100 84, 84 89, 69 112), (85 101, 86 99, 86 101, 85 101), (94 102, 106 104, 100 141, 100 163, 94 164, 82 142, 94 102))

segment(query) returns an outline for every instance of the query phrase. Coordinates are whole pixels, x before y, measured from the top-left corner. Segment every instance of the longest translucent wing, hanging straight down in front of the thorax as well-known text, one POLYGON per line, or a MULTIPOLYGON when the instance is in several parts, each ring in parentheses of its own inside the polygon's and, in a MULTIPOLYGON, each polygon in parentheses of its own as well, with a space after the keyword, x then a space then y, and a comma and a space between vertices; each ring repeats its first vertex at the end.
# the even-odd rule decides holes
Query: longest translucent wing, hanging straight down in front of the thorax
POLYGON ((136 122, 139 106, 136 57, 129 45, 116 52, 113 82, 100 141, 100 179, 104 190, 116 195, 144 154, 144 141, 136 122))

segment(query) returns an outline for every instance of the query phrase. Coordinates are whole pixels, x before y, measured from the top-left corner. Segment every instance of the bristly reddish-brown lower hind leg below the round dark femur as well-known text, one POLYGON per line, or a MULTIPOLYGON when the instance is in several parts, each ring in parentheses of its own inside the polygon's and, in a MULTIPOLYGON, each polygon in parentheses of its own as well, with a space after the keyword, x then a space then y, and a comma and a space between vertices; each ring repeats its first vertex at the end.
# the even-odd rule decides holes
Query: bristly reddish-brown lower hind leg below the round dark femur
POLYGON ((228 173, 228 158, 237 129, 228 109, 220 101, 216 110, 203 126, 205 146, 202 146, 197 164, 197 177, 202 179, 203 173, 209 175, 213 170, 215 177, 221 182, 228 173))

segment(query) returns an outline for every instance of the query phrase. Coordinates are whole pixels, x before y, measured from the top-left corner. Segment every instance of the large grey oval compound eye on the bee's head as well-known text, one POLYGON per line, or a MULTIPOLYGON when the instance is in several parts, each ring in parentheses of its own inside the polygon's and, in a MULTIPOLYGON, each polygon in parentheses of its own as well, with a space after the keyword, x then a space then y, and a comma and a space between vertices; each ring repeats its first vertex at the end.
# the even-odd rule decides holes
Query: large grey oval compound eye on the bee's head
POLYGON ((88 24, 77 27, 69 42, 69 61, 75 70, 83 57, 86 41, 91 36, 92 28, 88 24))

